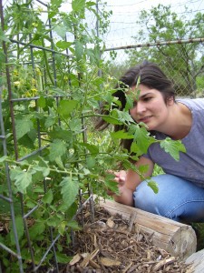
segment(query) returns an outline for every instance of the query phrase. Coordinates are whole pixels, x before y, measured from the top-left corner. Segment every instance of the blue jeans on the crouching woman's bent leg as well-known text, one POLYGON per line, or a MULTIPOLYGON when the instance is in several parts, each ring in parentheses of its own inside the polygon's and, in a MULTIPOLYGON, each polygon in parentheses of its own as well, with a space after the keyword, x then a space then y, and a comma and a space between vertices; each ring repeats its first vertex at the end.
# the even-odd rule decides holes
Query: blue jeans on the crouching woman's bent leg
POLYGON ((159 193, 142 181, 133 193, 135 207, 181 223, 204 223, 204 188, 171 175, 152 180, 158 184, 159 193))

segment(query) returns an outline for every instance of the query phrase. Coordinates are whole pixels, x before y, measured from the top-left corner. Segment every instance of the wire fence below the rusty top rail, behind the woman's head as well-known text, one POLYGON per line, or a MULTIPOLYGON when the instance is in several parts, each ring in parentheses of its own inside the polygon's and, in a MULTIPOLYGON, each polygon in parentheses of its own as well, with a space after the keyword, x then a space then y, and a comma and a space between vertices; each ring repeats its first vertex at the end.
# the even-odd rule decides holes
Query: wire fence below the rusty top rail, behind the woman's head
MULTIPOLYGON (((204 95, 204 69, 202 62, 199 61, 199 58, 203 56, 203 45, 204 38, 202 37, 158 41, 110 47, 105 50, 103 57, 108 59, 111 53, 114 56, 115 67, 121 68, 121 74, 131 66, 142 63, 143 60, 155 62, 172 80, 177 96, 196 98, 204 95), (173 56, 171 52, 176 52, 176 54, 173 56), (199 56, 194 61, 190 57, 191 52, 199 56)), ((112 75, 115 71, 116 69, 113 68, 112 75)), ((119 76, 121 74, 119 73, 119 76)))

